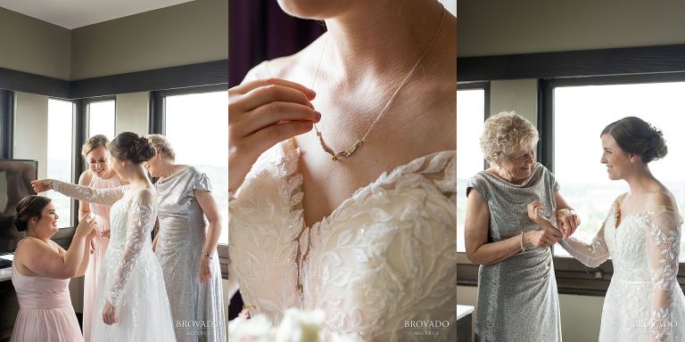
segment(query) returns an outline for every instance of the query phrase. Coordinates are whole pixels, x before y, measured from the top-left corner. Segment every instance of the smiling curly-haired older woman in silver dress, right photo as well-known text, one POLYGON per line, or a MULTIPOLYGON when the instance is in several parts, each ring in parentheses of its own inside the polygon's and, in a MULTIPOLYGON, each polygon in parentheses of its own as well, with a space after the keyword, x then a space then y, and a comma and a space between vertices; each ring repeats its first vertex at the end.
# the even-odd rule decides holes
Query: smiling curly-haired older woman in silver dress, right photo
POLYGON ((554 175, 535 162, 537 142, 535 127, 513 112, 485 121, 481 148, 491 167, 466 187, 466 256, 481 265, 476 341, 561 341, 549 247, 572 234, 579 222, 554 175), (534 201, 542 208, 528 205, 534 201), (529 217, 533 210, 556 216, 569 229, 541 229, 529 217))

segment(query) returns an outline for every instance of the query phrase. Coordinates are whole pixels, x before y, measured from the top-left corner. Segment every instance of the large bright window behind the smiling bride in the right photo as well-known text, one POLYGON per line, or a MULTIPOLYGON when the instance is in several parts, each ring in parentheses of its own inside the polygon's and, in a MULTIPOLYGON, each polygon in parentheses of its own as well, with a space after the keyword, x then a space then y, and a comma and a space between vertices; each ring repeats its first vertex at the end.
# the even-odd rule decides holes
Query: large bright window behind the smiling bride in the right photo
MULTIPOLYGON (((685 82, 622 85, 557 86, 554 88, 554 171, 566 201, 581 216, 575 232, 590 241, 605 220, 613 200, 629 191, 627 183, 610 181, 600 164, 599 134, 608 124, 624 117, 640 117, 661 129, 668 144, 664 159, 649 163, 658 180, 673 192, 678 207, 685 208, 685 82)), ((681 262, 685 250, 681 244, 681 262)), ((556 256, 568 256, 555 248, 556 256)))

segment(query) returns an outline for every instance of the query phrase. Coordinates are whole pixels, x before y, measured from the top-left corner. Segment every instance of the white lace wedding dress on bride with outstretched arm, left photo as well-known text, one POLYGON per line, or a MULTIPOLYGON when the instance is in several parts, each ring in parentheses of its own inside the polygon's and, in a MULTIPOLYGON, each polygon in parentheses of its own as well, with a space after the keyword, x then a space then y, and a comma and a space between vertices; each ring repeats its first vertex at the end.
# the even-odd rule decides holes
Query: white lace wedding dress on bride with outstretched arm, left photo
POLYGON ((110 243, 98 283, 104 284, 93 308, 93 341, 175 341, 169 297, 150 232, 157 218, 154 190, 128 186, 94 189, 54 181, 54 190, 89 203, 111 205, 110 243), (119 322, 103 322, 103 306, 116 306, 119 322))

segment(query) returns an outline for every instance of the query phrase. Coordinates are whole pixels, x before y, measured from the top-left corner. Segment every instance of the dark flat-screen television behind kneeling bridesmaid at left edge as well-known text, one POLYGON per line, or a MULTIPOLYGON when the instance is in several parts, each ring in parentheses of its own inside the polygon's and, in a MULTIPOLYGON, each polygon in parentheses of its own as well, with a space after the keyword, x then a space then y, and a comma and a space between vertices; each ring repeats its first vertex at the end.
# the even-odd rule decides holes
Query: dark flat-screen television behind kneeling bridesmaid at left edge
POLYGON ((14 226, 17 203, 35 195, 31 181, 37 179, 38 162, 27 159, 0 159, 0 255, 14 252, 24 236, 14 226))

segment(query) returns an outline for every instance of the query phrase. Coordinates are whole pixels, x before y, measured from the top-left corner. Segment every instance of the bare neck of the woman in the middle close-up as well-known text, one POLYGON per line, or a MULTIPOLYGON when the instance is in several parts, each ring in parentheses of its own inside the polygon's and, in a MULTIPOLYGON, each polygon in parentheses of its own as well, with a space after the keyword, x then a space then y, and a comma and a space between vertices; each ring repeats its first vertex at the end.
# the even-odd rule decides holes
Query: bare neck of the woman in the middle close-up
POLYGON ((321 69, 332 83, 385 83, 406 74, 433 40, 443 15, 442 4, 433 0, 376 1, 359 7, 326 20, 321 69))

